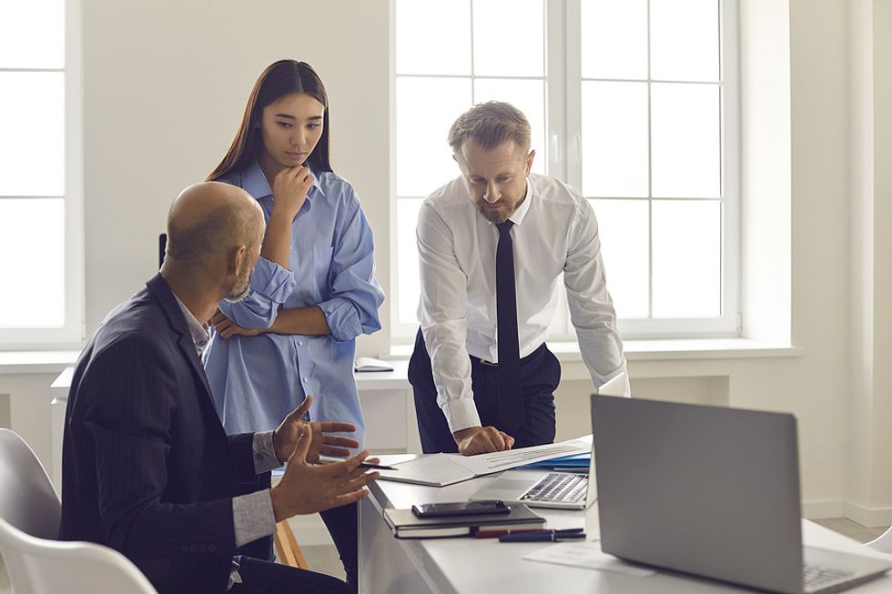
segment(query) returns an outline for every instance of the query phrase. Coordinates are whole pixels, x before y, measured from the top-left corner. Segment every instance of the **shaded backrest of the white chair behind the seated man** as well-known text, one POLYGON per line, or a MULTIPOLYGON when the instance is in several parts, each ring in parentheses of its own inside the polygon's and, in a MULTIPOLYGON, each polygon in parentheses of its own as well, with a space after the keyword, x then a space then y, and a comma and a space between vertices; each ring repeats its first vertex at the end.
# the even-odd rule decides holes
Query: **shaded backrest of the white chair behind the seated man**
POLYGON ((25 440, 0 429, 0 518, 38 539, 56 539, 62 505, 25 440))

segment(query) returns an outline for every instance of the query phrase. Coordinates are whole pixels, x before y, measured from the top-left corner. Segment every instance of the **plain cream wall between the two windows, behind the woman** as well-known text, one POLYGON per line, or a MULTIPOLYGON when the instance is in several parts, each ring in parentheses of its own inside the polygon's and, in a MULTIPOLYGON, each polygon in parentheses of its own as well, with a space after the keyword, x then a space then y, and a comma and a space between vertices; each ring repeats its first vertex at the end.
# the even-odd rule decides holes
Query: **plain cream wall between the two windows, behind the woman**
MULTIPOLYGON (((281 58, 322 77, 332 166, 387 245, 388 23, 387 0, 84 0, 88 333, 157 270, 167 206, 217 165, 254 81, 281 58)), ((387 257, 378 278, 388 287, 387 257)), ((386 348, 383 333, 360 345, 386 348)))

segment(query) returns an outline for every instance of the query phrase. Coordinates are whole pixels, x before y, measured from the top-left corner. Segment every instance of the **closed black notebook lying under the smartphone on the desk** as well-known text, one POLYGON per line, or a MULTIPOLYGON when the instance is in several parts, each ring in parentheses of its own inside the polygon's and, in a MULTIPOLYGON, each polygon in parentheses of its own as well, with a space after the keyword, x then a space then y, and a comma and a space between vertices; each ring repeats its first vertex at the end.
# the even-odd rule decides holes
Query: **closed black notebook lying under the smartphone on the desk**
POLYGON ((527 530, 542 529, 545 519, 526 506, 512 506, 507 514, 484 514, 419 518, 411 509, 384 510, 393 536, 398 539, 431 539, 442 537, 472 536, 478 529, 527 530))

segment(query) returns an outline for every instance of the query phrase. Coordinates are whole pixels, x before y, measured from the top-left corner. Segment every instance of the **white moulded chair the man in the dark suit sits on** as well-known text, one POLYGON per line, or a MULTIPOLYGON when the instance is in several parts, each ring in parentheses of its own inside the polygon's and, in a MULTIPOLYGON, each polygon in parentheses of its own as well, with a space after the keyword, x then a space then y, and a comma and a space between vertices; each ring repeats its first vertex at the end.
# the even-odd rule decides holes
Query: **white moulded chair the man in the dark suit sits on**
POLYGON ((25 441, 0 429, 0 551, 14 592, 157 594, 116 550, 58 542, 61 505, 46 470, 25 441))

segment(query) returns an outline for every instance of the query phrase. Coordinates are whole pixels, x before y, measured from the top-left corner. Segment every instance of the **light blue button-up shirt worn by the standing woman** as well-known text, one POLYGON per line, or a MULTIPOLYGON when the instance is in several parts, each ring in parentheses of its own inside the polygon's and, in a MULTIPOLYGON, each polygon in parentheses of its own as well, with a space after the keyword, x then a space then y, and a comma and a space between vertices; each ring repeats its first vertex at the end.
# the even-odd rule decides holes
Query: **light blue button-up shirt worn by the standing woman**
MULTIPOLYGON (((289 269, 261 257, 250 295, 235 304, 222 301, 220 310, 238 326, 260 328, 272 325, 279 308, 319 306, 331 334, 226 339, 213 333, 205 369, 228 434, 276 428, 311 394, 311 420, 353 423, 358 431, 351 437, 363 443, 355 339, 380 330, 384 293, 375 280, 371 229, 353 186, 334 173, 314 176, 291 226, 289 269)), ((269 222, 272 190, 257 163, 218 181, 257 198, 269 222)))

